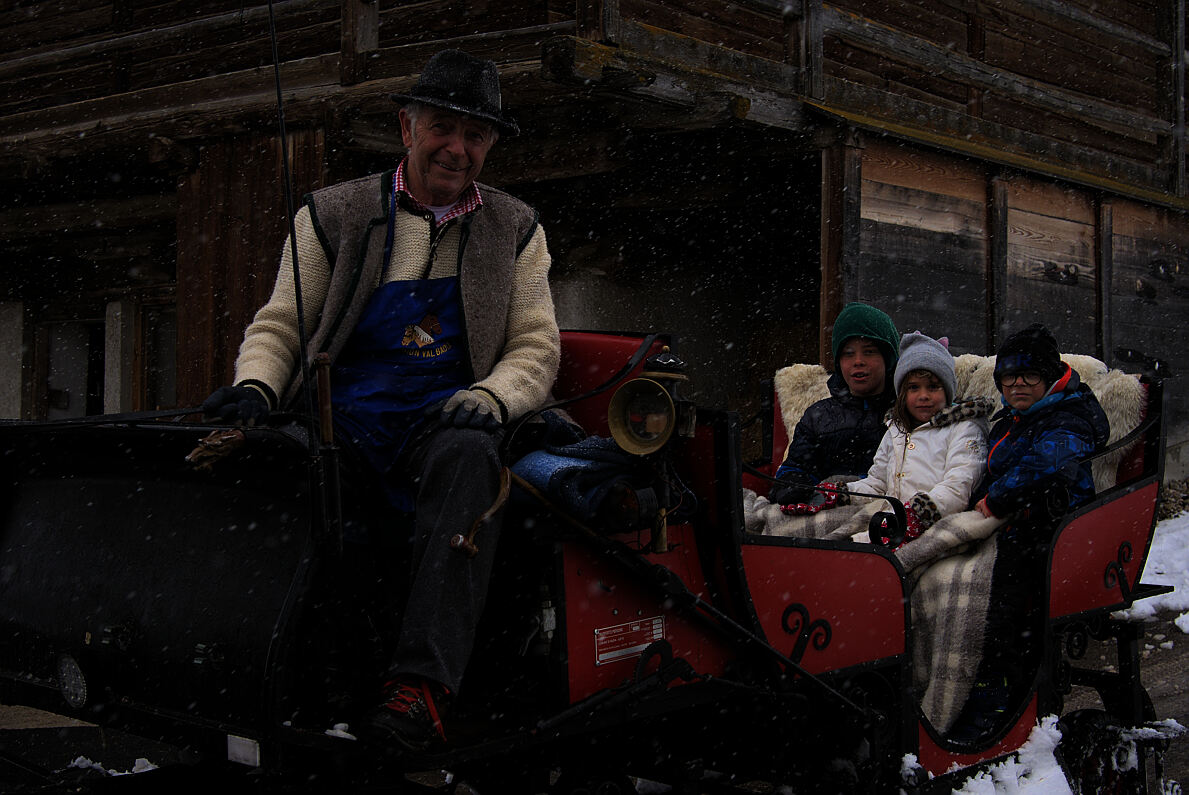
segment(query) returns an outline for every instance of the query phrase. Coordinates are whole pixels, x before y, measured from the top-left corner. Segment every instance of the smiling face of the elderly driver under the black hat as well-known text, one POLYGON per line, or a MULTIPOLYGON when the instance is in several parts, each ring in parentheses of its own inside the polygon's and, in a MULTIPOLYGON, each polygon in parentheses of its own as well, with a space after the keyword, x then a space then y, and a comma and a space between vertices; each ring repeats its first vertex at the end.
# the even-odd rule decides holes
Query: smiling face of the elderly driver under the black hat
POLYGON ((422 204, 443 207, 479 176, 496 131, 486 121, 434 107, 422 108, 414 122, 401 108, 401 138, 409 147, 409 193, 422 204))

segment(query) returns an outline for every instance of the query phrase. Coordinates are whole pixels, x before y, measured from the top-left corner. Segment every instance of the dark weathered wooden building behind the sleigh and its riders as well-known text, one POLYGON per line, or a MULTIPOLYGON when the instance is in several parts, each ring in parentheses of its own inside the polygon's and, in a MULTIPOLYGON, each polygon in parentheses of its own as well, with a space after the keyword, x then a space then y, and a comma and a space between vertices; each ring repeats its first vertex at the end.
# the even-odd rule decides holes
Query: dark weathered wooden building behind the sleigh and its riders
MULTIPOLYGON (((829 357, 847 302, 993 353, 1189 368, 1184 0, 0 0, 0 414, 194 405, 298 194, 392 166, 389 94, 493 58, 559 321, 678 335, 697 396, 829 357)), ((1170 474, 1189 399, 1170 381, 1170 474)))

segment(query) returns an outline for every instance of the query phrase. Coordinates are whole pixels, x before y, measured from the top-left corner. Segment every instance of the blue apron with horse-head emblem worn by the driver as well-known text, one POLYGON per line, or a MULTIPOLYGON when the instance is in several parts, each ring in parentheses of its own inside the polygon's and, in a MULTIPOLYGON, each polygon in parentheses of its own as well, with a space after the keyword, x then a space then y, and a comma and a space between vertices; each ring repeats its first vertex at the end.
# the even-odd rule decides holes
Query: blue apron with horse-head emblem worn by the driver
MULTIPOLYGON (((391 203, 384 263, 390 259, 391 203)), ((335 434, 380 475, 392 507, 413 511, 413 492, 394 473, 427 419, 426 408, 471 383, 457 276, 380 285, 331 370, 335 434)))

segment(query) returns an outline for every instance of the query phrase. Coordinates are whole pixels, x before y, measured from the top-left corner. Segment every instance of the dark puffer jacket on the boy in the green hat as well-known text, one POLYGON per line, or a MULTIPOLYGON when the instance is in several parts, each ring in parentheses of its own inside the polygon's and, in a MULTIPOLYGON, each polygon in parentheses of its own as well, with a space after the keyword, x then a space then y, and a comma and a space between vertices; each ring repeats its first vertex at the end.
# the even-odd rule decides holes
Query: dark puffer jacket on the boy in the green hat
POLYGON ((887 430, 883 415, 895 402, 891 376, 886 383, 888 387, 881 395, 856 397, 847 389, 842 372, 835 371, 826 381, 830 397, 806 409, 793 429, 792 444, 776 469, 778 482, 772 485, 768 499, 779 505, 804 503, 823 478, 866 475, 887 430))

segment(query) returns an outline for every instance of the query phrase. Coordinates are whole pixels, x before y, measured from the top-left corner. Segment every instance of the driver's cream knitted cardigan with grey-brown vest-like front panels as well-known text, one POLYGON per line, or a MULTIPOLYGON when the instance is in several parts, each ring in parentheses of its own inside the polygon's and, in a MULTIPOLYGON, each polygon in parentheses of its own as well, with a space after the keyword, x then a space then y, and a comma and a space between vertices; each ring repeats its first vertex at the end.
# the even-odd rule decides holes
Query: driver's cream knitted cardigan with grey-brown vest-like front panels
MULTIPOLYGON (((483 206, 439 229, 398 207, 392 258, 383 259, 392 172, 315 191, 296 217, 308 352, 332 361, 383 283, 458 275, 476 386, 493 396, 504 419, 540 406, 556 377, 560 334, 549 294, 545 231, 527 204, 480 185, 483 206)), ((289 241, 272 296, 244 334, 235 383, 279 396, 300 393, 296 299, 289 241)))

